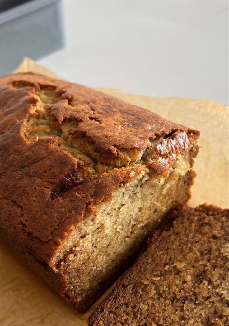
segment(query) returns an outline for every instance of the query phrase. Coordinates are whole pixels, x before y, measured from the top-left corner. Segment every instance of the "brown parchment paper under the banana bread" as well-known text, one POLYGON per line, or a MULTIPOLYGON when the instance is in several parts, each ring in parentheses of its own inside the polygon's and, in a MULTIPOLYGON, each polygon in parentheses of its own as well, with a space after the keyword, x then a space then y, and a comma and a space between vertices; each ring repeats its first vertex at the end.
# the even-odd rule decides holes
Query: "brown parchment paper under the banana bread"
MULTIPOLYGON (((33 71, 60 78, 28 58, 23 61, 18 71, 33 71)), ((227 106, 209 100, 152 98, 124 94, 114 89, 96 89, 152 110, 171 121, 200 130, 201 148, 194 165, 197 176, 189 204, 194 206, 207 202, 223 208, 228 207, 227 106)), ((95 305, 87 313, 77 314, 0 242, 1 326, 85 326, 95 305)))

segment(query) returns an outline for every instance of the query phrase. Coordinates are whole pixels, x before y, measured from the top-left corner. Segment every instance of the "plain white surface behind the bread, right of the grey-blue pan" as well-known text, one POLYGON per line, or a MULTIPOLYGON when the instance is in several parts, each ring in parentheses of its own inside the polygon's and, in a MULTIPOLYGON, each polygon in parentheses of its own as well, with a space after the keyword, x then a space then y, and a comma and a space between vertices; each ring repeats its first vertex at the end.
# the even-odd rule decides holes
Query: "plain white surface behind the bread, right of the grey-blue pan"
POLYGON ((227 0, 64 0, 66 48, 39 63, 88 86, 228 103, 227 0))

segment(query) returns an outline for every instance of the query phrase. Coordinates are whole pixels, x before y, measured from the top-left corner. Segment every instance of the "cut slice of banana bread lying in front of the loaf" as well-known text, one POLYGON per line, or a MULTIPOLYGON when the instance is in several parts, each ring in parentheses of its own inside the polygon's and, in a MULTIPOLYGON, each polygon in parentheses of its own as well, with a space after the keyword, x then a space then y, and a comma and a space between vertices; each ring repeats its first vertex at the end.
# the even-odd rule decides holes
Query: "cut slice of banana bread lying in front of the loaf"
POLYGON ((228 325, 228 210, 201 205, 175 217, 88 325, 228 325))

